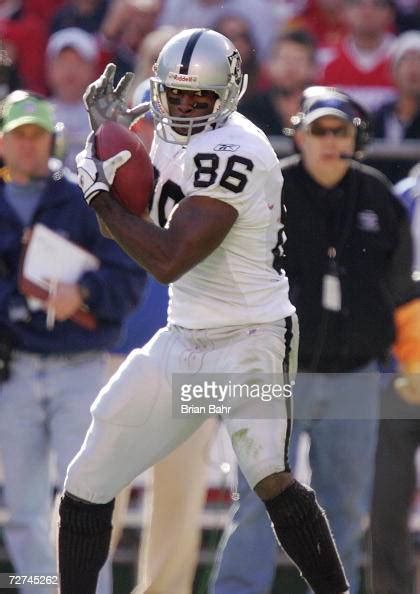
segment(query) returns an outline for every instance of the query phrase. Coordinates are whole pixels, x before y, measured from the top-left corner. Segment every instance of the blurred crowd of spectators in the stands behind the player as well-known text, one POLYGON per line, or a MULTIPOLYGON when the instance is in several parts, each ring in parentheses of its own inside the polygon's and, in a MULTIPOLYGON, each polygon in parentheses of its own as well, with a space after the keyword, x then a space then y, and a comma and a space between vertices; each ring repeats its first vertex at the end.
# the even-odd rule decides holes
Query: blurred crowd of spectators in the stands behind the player
MULTIPOLYGON (((117 77, 136 73, 137 102, 162 45, 196 26, 238 47, 249 76, 240 111, 269 136, 284 134, 303 89, 319 83, 360 101, 373 137, 397 147, 419 137, 419 0, 0 0, 0 100, 16 88, 48 96, 74 170, 87 84, 113 61, 117 77)), ((417 160, 407 155, 373 164, 395 183, 417 160)))

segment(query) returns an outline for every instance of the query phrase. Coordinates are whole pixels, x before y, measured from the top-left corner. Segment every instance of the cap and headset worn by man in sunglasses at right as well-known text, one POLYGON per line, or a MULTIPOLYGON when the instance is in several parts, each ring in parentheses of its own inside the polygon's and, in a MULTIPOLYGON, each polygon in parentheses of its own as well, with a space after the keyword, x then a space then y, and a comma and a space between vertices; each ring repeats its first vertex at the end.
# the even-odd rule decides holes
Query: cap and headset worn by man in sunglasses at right
POLYGON ((346 114, 356 128, 354 155, 351 157, 362 157, 363 150, 371 136, 371 120, 369 113, 360 103, 335 87, 308 87, 302 94, 300 111, 290 118, 292 127, 285 128, 284 134, 293 136, 298 128, 316 119, 316 117, 311 118, 311 115, 315 115, 315 113, 316 117, 323 115, 342 117, 343 113, 346 114))

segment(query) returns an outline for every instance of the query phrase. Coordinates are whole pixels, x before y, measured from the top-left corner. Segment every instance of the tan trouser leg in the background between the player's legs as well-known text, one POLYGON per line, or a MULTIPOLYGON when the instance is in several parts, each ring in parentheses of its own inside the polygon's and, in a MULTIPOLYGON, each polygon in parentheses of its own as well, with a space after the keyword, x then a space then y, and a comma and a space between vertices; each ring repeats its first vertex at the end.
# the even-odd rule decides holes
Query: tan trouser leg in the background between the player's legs
POLYGON ((215 419, 208 419, 153 467, 152 484, 146 491, 137 594, 192 592, 215 426, 215 419))

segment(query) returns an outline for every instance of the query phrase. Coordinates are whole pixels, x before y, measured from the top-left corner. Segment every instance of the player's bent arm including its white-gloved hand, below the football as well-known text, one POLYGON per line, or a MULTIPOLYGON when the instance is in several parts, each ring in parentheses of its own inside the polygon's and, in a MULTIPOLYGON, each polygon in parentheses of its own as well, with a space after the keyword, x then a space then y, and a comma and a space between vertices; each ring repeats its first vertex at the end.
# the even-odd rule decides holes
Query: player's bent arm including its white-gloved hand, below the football
POLYGON ((84 151, 76 157, 79 185, 104 231, 158 281, 170 283, 222 243, 238 212, 222 200, 194 195, 179 203, 164 229, 152 223, 148 215, 133 216, 109 193, 117 169, 130 156, 130 151, 123 150, 99 161, 91 133, 84 151))

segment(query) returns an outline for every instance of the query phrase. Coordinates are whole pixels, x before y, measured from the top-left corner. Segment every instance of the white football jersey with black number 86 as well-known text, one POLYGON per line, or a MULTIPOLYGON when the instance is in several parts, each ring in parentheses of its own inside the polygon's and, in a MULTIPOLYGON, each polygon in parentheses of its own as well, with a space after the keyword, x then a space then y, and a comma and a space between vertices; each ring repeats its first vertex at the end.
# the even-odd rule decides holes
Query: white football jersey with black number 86
POLYGON ((217 328, 291 315, 287 278, 273 267, 283 177, 261 130, 234 113, 224 126, 192 136, 185 147, 155 134, 151 158, 158 175, 155 223, 165 226, 185 196, 222 200, 238 212, 219 247, 170 286, 168 322, 217 328))

